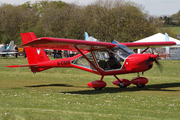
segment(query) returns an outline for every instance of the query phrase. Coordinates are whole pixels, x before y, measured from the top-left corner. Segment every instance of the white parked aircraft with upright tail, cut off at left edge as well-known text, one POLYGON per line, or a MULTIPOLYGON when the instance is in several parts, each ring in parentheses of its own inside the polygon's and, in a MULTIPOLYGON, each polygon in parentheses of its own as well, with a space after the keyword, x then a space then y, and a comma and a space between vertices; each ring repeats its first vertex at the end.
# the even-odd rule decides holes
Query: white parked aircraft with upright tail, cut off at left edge
POLYGON ((13 50, 13 47, 14 47, 14 41, 11 41, 11 42, 9 43, 8 49, 6 49, 6 48, 0 48, 0 55, 5 56, 5 55, 12 55, 12 54, 18 53, 18 52, 16 52, 16 51, 13 50))

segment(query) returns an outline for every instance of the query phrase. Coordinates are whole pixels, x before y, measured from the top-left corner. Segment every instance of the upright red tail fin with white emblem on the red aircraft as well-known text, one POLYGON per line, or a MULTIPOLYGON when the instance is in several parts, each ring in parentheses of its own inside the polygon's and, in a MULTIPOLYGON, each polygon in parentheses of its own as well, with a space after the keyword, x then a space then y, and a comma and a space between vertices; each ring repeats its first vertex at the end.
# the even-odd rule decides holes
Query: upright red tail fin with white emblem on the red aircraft
MULTIPOLYGON (((27 42, 33 41, 37 37, 34 33, 30 32, 30 33, 21 33, 21 38, 22 38, 23 44, 25 44, 27 42)), ((26 52, 29 65, 34 65, 41 62, 49 61, 49 58, 46 52, 42 48, 25 47, 24 49, 26 52)), ((36 67, 30 66, 30 67, 31 67, 32 72, 40 72, 40 71, 50 68, 50 67, 40 68, 37 66, 36 67)))

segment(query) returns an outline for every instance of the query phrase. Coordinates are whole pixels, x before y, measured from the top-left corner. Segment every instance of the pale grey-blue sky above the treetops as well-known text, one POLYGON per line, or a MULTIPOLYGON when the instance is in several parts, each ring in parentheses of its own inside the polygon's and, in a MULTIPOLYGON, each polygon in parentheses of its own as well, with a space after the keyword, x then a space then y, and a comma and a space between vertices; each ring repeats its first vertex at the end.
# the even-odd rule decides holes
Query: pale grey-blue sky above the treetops
MULTIPOLYGON (((12 5, 20 5, 27 1, 34 3, 41 0, 0 0, 0 3, 8 3, 12 5)), ((52 0, 49 0, 52 1, 52 0)), ((57 1, 57 0, 56 0, 57 1)), ((61 0, 66 3, 77 3, 78 5, 88 5, 96 0, 61 0)), ((126 0, 127 1, 127 0, 126 0)), ((180 10, 180 0, 128 0, 144 6, 150 15, 154 16, 170 16, 176 14, 180 10)))

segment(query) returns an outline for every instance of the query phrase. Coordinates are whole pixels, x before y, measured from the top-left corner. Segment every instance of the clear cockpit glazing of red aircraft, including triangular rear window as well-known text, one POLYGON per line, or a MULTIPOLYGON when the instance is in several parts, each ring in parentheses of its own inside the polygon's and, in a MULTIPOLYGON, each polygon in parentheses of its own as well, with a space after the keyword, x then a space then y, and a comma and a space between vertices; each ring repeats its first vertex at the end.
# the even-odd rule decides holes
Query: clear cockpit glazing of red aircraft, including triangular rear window
MULTIPOLYGON (((104 71, 108 71, 112 69, 121 69, 124 60, 131 54, 134 54, 132 50, 124 45, 118 44, 114 48, 93 51, 85 55, 95 66, 96 62, 98 65, 97 67, 104 71)), ((96 70, 83 56, 73 60, 72 64, 96 70)))

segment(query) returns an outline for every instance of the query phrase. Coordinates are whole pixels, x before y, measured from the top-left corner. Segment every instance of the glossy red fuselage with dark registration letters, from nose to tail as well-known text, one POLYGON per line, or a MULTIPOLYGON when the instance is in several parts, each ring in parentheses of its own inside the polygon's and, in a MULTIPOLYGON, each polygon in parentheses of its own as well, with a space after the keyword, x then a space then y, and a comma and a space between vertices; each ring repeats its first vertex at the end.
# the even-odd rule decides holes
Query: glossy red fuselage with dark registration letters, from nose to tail
MULTIPOLYGON (((86 54, 87 52, 85 52, 86 54)), ((99 67, 96 60, 93 61, 96 68, 91 69, 90 67, 74 64, 73 61, 77 58, 82 57, 78 54, 74 57, 51 60, 46 62, 38 63, 37 66, 41 68, 52 68, 52 67, 71 67, 92 72, 99 75, 118 75, 127 73, 144 72, 152 68, 154 60, 157 58, 154 54, 132 54, 128 56, 121 68, 104 70, 99 67)))

